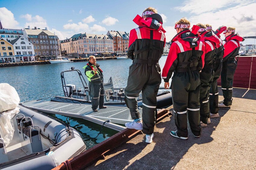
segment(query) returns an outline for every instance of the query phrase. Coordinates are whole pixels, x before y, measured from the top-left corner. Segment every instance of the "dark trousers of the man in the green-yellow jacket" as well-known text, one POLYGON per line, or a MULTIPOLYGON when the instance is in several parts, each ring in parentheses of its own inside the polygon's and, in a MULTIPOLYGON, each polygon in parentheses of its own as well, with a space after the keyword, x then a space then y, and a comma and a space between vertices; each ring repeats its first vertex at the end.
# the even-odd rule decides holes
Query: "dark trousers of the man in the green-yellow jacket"
POLYGON ((89 82, 89 90, 91 93, 91 102, 92 102, 92 109, 97 109, 98 106, 102 107, 104 105, 104 87, 103 82, 100 83, 92 83, 89 82))

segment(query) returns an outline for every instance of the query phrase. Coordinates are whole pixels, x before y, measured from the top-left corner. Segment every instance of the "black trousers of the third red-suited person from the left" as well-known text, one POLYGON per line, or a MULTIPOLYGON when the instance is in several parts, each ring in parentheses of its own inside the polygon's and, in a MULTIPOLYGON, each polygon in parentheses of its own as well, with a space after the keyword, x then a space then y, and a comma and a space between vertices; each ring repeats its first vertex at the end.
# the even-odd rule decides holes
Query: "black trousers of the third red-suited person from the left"
POLYGON ((205 124, 207 124, 207 120, 210 116, 209 90, 212 84, 213 75, 213 68, 208 65, 205 65, 200 73, 200 120, 205 124))

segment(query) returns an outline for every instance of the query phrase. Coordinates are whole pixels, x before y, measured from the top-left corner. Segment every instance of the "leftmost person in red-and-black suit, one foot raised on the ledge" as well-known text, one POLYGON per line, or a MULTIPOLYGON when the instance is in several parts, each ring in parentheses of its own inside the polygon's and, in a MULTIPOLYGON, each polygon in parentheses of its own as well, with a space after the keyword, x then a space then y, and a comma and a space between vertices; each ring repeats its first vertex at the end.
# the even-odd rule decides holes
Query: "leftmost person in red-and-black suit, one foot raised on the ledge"
POLYGON ((158 61, 163 54, 165 30, 163 20, 154 8, 143 11, 142 17, 137 15, 134 22, 139 26, 130 32, 128 58, 133 60, 129 68, 125 103, 130 109, 133 122, 125 124, 127 128, 142 130, 146 134, 147 143, 154 138, 156 122, 157 92, 161 83, 161 69, 158 61), (142 119, 138 111, 137 97, 142 91, 142 119))

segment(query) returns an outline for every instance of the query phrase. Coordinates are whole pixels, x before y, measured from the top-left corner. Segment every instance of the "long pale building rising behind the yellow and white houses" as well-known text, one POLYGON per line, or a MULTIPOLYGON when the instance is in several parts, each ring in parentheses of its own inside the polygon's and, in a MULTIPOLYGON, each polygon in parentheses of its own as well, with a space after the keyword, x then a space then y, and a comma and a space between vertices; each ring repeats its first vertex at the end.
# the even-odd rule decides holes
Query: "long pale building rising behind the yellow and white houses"
POLYGON ((2 23, 0 21, 0 37, 2 37, 5 41, 11 42, 12 40, 22 35, 23 35, 22 29, 3 28, 2 23))

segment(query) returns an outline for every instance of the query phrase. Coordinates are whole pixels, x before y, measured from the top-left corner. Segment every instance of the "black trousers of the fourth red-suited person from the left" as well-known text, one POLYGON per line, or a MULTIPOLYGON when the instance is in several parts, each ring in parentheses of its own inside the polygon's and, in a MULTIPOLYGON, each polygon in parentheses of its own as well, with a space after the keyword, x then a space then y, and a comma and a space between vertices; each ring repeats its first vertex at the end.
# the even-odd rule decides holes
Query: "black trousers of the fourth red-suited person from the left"
POLYGON ((214 76, 212 80, 212 85, 209 91, 209 104, 210 104, 210 112, 212 114, 216 114, 219 111, 218 101, 219 101, 219 90, 217 85, 217 80, 221 74, 222 70, 222 59, 216 60, 213 66, 214 76))

